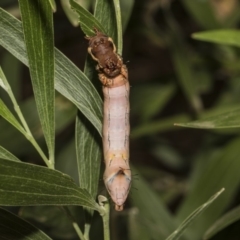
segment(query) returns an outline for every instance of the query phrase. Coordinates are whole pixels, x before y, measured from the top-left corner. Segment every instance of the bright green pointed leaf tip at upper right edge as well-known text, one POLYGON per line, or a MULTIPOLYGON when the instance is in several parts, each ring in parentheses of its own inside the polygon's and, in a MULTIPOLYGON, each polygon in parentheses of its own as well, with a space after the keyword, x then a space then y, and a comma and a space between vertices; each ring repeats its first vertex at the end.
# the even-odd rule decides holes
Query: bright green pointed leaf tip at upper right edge
POLYGON ((239 30, 225 29, 225 30, 198 32, 198 33, 194 33, 192 37, 194 39, 201 40, 201 41, 240 47, 240 31, 239 30))

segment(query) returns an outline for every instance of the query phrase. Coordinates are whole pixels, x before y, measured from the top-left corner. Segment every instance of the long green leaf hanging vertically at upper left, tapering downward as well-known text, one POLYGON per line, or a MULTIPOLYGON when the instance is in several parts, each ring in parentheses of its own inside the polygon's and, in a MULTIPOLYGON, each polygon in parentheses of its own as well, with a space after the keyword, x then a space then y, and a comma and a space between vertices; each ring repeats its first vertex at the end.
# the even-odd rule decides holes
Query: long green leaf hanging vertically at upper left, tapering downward
MULTIPOLYGON (((52 1, 53 2, 53 1, 52 1)), ((54 162, 54 45, 52 11, 46 0, 20 0, 29 70, 40 122, 54 162)))

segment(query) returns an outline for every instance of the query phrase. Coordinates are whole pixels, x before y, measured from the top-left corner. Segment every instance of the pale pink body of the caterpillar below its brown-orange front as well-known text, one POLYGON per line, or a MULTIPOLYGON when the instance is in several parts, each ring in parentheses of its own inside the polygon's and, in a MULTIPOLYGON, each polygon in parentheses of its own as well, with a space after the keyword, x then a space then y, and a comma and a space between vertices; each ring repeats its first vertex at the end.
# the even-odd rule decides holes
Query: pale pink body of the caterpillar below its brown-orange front
POLYGON ((105 186, 121 211, 131 186, 129 166, 129 83, 115 88, 103 87, 103 151, 105 186))

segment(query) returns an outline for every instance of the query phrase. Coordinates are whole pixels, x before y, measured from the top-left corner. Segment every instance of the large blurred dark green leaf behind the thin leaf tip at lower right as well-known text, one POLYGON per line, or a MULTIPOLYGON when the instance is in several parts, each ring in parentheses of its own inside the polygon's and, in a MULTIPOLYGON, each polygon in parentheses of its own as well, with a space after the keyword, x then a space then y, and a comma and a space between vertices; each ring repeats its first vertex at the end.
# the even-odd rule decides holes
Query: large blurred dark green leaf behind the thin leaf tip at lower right
POLYGON ((221 147, 214 155, 211 152, 202 154, 198 164, 192 171, 189 182, 190 190, 177 213, 177 219, 183 221, 189 212, 205 202, 213 192, 225 188, 221 200, 217 200, 207 212, 204 212, 191 226, 187 233, 191 239, 199 239, 226 210, 237 193, 240 185, 239 155, 240 138, 231 141, 226 147, 221 147))

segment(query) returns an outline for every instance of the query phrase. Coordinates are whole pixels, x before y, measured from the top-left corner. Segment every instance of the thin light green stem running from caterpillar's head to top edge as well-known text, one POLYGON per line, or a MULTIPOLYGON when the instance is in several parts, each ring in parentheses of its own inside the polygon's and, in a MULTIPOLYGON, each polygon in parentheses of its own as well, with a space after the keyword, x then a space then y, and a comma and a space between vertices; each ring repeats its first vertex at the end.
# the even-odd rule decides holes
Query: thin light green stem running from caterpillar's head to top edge
POLYGON ((122 54, 122 18, 121 18, 121 7, 119 0, 113 0, 115 14, 116 14, 116 24, 117 24, 117 52, 122 54))

